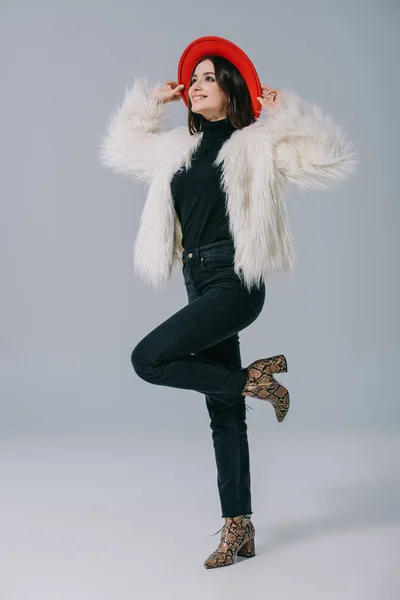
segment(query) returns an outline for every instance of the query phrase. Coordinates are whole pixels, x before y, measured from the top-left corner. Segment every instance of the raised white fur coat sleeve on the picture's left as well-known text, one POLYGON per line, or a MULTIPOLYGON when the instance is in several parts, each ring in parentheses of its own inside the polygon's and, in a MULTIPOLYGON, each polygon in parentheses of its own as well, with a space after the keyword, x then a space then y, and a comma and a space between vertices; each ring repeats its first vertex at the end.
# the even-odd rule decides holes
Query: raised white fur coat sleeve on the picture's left
POLYGON ((111 115, 106 133, 100 137, 100 160, 117 173, 150 183, 168 145, 170 132, 160 132, 166 119, 166 104, 152 96, 154 87, 146 78, 135 78, 111 115))

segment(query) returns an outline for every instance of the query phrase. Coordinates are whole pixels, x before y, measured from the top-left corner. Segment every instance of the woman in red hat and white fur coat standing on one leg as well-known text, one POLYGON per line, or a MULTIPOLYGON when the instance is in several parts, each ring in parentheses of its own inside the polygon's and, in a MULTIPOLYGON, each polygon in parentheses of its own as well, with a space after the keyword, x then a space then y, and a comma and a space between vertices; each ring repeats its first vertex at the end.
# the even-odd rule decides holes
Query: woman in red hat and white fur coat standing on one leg
POLYGON ((174 264, 182 268, 188 305, 147 334, 131 359, 149 383, 205 395, 225 519, 204 563, 214 568, 255 554, 245 396, 269 401, 280 422, 289 409, 289 392, 274 378, 287 371, 285 356, 242 368, 238 335, 261 313, 267 276, 293 264, 283 185, 328 187, 354 169, 355 157, 329 117, 261 86, 228 40, 192 42, 179 80, 154 88, 136 80, 103 137, 102 158, 150 184, 135 270, 160 288, 174 264), (165 105, 182 98, 188 127, 160 132, 165 105))

